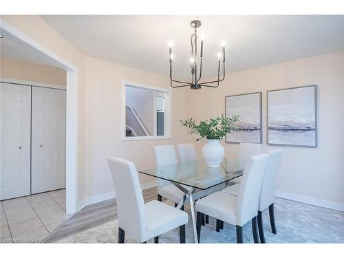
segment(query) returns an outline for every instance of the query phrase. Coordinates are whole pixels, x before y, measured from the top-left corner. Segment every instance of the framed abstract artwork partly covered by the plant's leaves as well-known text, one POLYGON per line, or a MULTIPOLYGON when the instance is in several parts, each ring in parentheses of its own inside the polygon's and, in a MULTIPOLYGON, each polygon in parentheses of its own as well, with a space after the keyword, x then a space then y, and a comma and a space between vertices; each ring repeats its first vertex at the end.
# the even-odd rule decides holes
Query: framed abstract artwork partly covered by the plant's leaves
POLYGON ((226 142, 261 143, 261 92, 226 96, 226 116, 239 116, 226 142))

